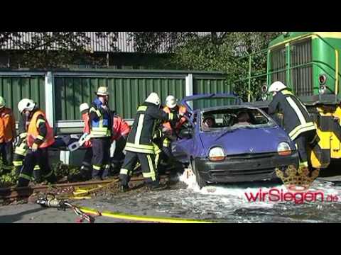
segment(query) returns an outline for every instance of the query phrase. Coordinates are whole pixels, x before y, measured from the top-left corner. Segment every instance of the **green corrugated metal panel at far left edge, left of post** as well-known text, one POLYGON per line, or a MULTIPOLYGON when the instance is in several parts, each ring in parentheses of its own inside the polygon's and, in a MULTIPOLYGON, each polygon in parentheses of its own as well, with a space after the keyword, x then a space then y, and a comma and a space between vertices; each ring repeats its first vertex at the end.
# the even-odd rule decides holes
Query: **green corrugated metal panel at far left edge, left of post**
POLYGON ((0 74, 0 96, 4 96, 6 106, 12 108, 18 120, 18 102, 31 98, 45 110, 45 79, 43 76, 2 76, 0 74))

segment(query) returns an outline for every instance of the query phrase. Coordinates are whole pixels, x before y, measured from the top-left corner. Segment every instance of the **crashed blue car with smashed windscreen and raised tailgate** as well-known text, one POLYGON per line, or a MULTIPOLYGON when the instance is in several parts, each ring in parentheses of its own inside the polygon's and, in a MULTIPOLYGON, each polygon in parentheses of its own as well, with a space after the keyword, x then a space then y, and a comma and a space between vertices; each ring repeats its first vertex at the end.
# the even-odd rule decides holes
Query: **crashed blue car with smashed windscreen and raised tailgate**
POLYGON ((260 108, 230 94, 183 98, 188 127, 172 143, 173 156, 188 164, 197 184, 278 179, 275 169, 298 167, 286 132, 260 108))

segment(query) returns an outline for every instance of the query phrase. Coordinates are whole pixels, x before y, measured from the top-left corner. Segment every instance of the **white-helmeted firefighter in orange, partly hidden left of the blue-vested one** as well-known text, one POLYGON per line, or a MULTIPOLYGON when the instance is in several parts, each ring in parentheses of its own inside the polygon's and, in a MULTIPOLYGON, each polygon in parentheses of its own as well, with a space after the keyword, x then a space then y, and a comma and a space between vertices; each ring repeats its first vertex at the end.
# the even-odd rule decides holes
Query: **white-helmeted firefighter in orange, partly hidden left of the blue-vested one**
MULTIPOLYGON (((90 106, 87 103, 82 103, 80 105, 80 114, 82 115, 82 120, 84 123, 83 134, 90 135, 90 116, 89 116, 90 106)), ((91 179, 92 175, 92 145, 90 139, 86 140, 82 145, 86 151, 84 155, 84 159, 82 161, 82 166, 80 170, 87 176, 87 179, 91 179)))

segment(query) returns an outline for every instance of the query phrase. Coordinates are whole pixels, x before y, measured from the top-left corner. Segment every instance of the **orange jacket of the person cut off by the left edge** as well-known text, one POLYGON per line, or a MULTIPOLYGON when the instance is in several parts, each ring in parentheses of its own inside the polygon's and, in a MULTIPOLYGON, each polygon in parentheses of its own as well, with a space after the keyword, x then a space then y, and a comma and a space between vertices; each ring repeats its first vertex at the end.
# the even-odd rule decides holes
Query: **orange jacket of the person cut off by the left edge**
POLYGON ((16 120, 10 108, 0 108, 0 143, 16 137, 16 120))

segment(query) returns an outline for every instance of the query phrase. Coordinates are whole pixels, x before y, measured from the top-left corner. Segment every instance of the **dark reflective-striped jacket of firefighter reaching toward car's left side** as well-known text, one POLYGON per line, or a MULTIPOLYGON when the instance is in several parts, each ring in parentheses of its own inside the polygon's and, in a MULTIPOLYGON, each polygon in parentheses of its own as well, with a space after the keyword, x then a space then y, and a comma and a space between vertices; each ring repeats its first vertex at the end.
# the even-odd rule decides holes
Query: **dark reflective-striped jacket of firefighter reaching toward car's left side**
POLYGON ((157 120, 169 121, 177 118, 177 115, 165 113, 153 103, 139 106, 126 142, 126 151, 154 154, 153 136, 158 125, 157 120))

